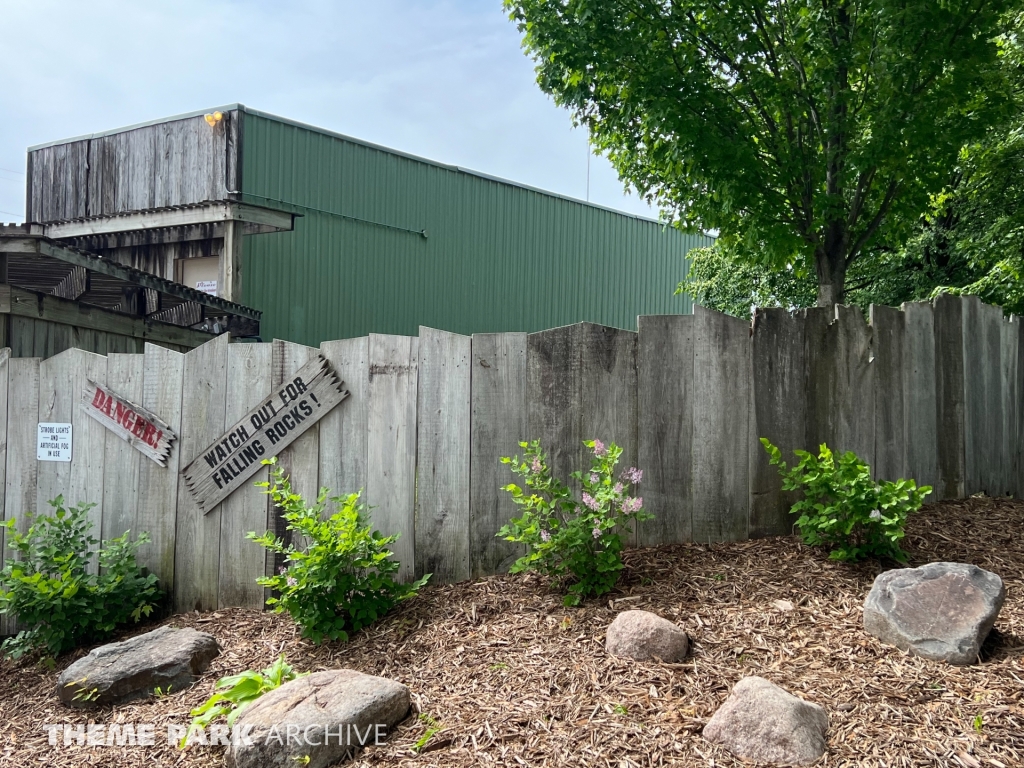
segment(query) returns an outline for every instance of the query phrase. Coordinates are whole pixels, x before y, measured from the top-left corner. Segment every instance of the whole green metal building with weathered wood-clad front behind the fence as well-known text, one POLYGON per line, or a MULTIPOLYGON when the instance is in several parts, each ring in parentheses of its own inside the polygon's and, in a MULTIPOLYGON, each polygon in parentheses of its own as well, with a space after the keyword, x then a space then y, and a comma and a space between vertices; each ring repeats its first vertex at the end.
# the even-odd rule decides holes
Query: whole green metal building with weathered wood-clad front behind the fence
POLYGON ((310 345, 421 325, 633 329, 638 314, 691 311, 674 290, 687 252, 712 242, 241 104, 33 147, 29 176, 36 221, 210 201, 262 216, 177 245, 138 233, 76 245, 177 280, 178 262, 217 257, 218 293, 262 310, 264 339, 310 345), (268 225, 275 214, 293 225, 268 225))

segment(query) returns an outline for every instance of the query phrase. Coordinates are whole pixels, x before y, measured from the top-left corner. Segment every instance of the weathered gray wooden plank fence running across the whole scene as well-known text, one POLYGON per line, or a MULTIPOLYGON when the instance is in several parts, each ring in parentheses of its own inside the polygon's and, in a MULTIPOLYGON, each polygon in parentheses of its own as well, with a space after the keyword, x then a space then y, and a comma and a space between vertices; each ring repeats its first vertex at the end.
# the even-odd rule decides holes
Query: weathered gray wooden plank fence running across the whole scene
MULTIPOLYGON (((759 310, 753 321, 697 308, 643 316, 639 332, 581 324, 473 337, 420 330, 321 351, 350 396, 281 456, 299 492, 365 488, 372 519, 401 532, 401 574, 455 582, 499 571, 515 549, 495 538, 514 513, 502 456, 540 438, 560 475, 588 465, 600 437, 644 470, 654 520, 635 542, 660 545, 786 534, 792 499, 758 442, 788 455, 827 442, 880 478, 911 476, 933 499, 1024 494, 1024 338, 1018 318, 974 298, 902 310, 759 310)), ((173 585, 178 610, 259 606, 272 563, 246 540, 274 525, 251 482, 204 515, 180 470, 289 381, 316 350, 274 341, 187 353, 71 349, 0 357, 5 518, 62 494, 94 502, 103 538, 150 532, 142 559, 173 585), (86 380, 148 409, 179 435, 162 468, 79 408, 86 380), (3 407, 6 403, 6 407, 3 407), (37 422, 74 426, 71 463, 38 462, 37 422)), ((266 476, 260 470, 256 479, 266 476)), ((8 553, 9 554, 9 553, 8 553)))

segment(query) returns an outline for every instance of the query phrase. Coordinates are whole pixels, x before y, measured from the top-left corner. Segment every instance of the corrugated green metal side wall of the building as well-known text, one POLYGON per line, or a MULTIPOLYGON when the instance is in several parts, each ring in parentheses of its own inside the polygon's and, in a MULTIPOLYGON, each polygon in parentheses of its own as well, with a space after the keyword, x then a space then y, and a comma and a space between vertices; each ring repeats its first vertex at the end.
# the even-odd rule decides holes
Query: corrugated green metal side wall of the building
POLYGON ((673 291, 708 238, 266 116, 244 132, 245 199, 303 214, 246 238, 243 301, 264 339, 635 329, 691 310, 673 291))

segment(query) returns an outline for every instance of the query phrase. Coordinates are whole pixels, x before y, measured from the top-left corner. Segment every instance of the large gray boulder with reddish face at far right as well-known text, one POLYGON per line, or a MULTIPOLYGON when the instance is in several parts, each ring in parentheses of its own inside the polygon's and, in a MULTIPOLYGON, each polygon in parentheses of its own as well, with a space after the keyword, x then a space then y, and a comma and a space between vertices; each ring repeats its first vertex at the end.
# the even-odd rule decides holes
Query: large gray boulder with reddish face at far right
POLYGON ((925 658, 974 664, 1006 596, 1002 580, 977 565, 887 570, 864 601, 864 630, 925 658))

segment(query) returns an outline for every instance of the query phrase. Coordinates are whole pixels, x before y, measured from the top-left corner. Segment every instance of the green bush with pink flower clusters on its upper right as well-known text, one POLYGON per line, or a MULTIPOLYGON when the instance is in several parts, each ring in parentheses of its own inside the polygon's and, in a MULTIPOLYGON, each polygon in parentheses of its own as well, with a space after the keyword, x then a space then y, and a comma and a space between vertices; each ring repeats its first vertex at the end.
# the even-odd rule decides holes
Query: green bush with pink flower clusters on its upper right
POLYGON ((643 499, 629 495, 643 472, 631 467, 615 479, 623 450, 615 443, 605 446, 600 440, 585 440, 584 444, 594 452, 594 460, 589 472, 571 474, 582 486, 580 501, 551 476, 540 440, 519 443, 525 450, 521 462, 518 456, 502 459, 531 492, 515 483, 503 488, 523 514, 510 520, 498 536, 527 547, 511 570, 537 570, 567 582, 566 605, 579 605, 590 595, 610 591, 623 569, 622 534, 633 521, 653 519, 643 511, 643 499))

